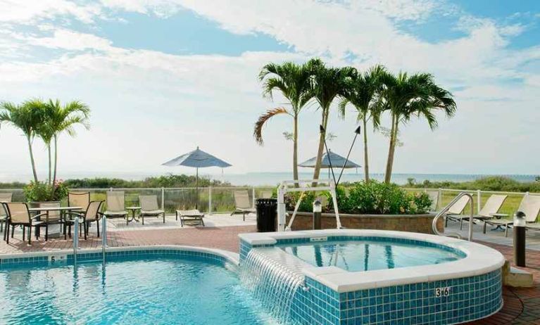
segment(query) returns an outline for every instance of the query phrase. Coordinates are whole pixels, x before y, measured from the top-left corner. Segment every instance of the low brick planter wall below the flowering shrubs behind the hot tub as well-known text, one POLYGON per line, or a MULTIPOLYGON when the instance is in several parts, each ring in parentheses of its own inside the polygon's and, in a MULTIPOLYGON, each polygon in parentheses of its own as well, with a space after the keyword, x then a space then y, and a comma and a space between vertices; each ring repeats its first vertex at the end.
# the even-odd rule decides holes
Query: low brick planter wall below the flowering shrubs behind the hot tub
MULTIPOLYGON (((292 212, 289 212, 289 222, 292 212)), ((425 215, 346 215, 339 214, 341 226, 350 229, 379 229, 419 232, 433 234, 432 222, 434 214, 425 215)), ((323 213, 321 218, 322 229, 335 229, 336 216, 333 213, 323 213)), ((292 230, 313 229, 313 214, 310 212, 298 212, 292 224, 292 230)), ((444 222, 440 218, 437 229, 444 232, 444 222)))

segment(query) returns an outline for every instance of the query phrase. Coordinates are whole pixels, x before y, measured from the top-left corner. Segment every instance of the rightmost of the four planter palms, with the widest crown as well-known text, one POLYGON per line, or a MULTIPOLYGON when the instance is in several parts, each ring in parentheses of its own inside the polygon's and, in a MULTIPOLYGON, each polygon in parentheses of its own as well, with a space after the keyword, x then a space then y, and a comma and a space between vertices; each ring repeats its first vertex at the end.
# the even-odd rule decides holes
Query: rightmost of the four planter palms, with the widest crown
POLYGON ((390 183, 398 129, 411 117, 423 117, 431 129, 437 127, 435 110, 442 110, 447 117, 456 113, 456 102, 452 94, 434 82, 433 75, 418 73, 408 75, 400 72, 397 76, 386 72, 382 75, 384 87, 381 91, 379 108, 389 110, 391 115, 390 144, 388 148, 387 170, 384 181, 390 183))

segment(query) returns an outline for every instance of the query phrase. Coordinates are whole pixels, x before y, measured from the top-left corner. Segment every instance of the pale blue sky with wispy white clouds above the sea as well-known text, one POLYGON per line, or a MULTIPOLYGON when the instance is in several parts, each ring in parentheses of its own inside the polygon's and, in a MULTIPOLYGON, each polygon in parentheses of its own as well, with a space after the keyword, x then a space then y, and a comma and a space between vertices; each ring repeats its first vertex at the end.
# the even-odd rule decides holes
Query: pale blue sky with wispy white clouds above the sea
MULTIPOLYGON (((522 0, 0 0, 0 101, 80 100, 91 129, 61 136, 60 176, 70 173, 191 172, 163 167, 202 150, 228 173, 291 170, 287 116, 264 129, 265 63, 313 57, 360 70, 430 72, 458 110, 401 127, 394 172, 539 174, 540 1, 522 0)), ((320 111, 300 117, 299 159, 317 149, 320 111)), ((383 126, 389 125, 387 117, 383 126)), ((332 108, 329 148, 346 154, 356 128, 332 108)), ((388 139, 368 129, 370 167, 384 172, 388 139)), ((30 177, 25 139, 0 128, 0 176, 30 177)), ((34 140, 37 166, 46 150, 34 140)), ((358 142, 351 159, 363 163, 358 142)), ((220 173, 209 169, 206 173, 220 173)))

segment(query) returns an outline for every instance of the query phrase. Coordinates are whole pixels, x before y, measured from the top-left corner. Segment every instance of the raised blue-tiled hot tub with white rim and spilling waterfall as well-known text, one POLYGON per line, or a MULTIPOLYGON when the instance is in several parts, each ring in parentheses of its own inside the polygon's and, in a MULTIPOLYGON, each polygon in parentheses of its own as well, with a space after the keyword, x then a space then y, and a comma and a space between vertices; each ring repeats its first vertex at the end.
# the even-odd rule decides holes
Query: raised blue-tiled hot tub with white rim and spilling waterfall
POLYGON ((287 302, 272 305, 285 322, 459 324, 503 304, 504 257, 477 243, 361 229, 239 236, 248 287, 263 305, 287 302))

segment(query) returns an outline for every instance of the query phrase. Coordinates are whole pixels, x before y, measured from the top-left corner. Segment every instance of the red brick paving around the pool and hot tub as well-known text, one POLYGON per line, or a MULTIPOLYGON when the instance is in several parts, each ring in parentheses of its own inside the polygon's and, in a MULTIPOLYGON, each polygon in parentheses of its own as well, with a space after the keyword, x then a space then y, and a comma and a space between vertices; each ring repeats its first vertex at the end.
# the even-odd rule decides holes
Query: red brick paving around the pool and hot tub
MULTIPOLYGON (((95 229, 93 229, 95 231, 95 229)), ((151 245, 189 245, 208 248, 220 248, 237 253, 239 248, 238 234, 255 231, 253 225, 242 227, 196 227, 184 229, 152 229, 132 231, 110 231, 107 234, 108 245, 122 246, 151 246, 151 245)), ((91 231, 92 232, 92 231, 91 231)), ((479 241, 486 246, 499 250, 513 262, 513 248, 479 241)), ((92 233, 87 241, 80 241, 81 248, 100 248, 101 238, 92 233)), ((20 240, 20 234, 10 238, 10 243, 0 241, 0 254, 29 253, 39 251, 54 251, 73 248, 73 242, 68 239, 43 239, 32 241, 31 245, 20 240)), ((0 256, 1 257, 1 256, 0 256)), ((503 324, 539 324, 540 325, 540 251, 527 250, 527 272, 534 276, 534 288, 504 288, 503 309, 491 317, 467 324, 503 325, 503 324)))

